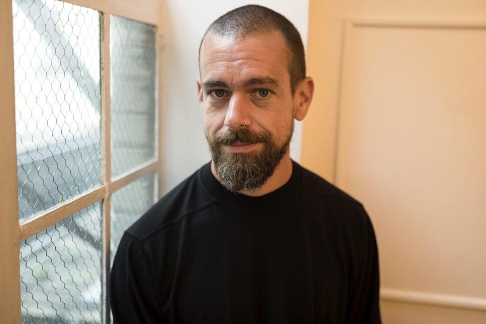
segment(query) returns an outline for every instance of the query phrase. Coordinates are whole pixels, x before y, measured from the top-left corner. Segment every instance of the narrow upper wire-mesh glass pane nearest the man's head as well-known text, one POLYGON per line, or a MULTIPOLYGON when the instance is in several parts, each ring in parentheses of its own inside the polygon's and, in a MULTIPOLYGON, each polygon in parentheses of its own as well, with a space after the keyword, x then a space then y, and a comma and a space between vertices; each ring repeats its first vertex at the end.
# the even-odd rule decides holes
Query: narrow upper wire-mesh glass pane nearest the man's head
POLYGON ((155 156, 155 27, 110 16, 111 174, 155 156))

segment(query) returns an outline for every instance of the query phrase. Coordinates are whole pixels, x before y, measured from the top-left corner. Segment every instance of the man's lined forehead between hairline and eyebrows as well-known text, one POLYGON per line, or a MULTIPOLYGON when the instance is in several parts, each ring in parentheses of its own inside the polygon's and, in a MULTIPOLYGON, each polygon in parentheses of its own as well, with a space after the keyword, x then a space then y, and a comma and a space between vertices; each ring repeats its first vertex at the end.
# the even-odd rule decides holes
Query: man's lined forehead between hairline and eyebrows
POLYGON ((201 45, 201 81, 223 79, 237 83, 252 77, 290 82, 289 50, 279 31, 244 38, 208 33, 201 45))

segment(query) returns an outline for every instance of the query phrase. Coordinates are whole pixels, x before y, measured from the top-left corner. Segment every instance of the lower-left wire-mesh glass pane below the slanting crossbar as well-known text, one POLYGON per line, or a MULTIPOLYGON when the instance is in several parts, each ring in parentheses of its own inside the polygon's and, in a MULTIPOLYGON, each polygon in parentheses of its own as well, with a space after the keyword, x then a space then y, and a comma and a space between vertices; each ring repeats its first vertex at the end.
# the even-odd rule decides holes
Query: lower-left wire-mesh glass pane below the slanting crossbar
POLYGON ((101 247, 101 203, 22 242, 22 323, 100 323, 101 247))

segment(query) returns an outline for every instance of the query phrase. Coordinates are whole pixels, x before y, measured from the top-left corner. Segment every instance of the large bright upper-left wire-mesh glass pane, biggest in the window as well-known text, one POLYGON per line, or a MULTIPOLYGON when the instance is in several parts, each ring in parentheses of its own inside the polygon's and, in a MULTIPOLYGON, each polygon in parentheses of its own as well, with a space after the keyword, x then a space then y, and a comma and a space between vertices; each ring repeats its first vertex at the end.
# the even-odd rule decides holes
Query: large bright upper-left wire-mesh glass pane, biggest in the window
POLYGON ((14 0, 19 218, 100 183, 98 12, 14 0))

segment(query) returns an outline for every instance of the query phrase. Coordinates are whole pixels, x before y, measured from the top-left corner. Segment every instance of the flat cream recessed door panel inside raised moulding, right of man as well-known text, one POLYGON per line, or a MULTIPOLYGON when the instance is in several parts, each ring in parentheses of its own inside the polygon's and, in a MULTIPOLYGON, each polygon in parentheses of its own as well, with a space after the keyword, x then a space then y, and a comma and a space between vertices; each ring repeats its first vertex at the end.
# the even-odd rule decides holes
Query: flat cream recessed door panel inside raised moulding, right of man
POLYGON ((350 26, 336 183, 374 216, 382 286, 482 297, 486 29, 350 26))

